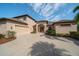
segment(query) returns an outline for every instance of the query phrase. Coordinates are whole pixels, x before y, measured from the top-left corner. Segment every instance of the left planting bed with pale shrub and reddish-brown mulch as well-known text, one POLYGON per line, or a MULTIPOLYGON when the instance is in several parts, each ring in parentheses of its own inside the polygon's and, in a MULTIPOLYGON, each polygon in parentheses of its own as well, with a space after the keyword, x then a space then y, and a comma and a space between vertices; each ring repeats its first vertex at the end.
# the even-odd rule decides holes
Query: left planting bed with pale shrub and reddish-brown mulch
POLYGON ((16 39, 14 31, 7 31, 7 35, 0 34, 0 44, 7 43, 7 42, 12 41, 14 39, 16 39))

